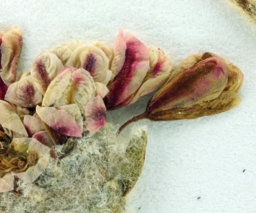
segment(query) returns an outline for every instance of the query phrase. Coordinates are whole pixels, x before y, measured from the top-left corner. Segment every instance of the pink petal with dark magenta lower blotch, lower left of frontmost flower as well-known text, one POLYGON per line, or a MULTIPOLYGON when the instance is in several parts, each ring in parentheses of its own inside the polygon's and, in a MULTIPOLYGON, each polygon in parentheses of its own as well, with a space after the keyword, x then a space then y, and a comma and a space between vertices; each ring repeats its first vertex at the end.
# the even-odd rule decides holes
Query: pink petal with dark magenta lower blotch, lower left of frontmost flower
POLYGON ((37 114, 48 126, 58 133, 73 137, 82 137, 82 132, 74 116, 66 110, 57 110, 55 107, 36 107, 37 114))

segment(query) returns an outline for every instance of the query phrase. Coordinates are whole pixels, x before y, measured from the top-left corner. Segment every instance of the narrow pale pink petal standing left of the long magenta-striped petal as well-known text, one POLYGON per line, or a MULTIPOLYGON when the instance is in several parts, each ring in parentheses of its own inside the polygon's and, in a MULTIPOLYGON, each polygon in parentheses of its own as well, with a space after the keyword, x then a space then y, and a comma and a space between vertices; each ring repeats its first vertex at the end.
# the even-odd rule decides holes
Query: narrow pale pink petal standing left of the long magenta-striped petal
POLYGON ((114 43, 114 58, 111 65, 111 78, 114 79, 117 73, 120 72, 124 65, 125 60, 125 51, 126 51, 126 41, 133 37, 133 34, 130 32, 125 32, 122 29, 118 32, 115 43, 114 43))

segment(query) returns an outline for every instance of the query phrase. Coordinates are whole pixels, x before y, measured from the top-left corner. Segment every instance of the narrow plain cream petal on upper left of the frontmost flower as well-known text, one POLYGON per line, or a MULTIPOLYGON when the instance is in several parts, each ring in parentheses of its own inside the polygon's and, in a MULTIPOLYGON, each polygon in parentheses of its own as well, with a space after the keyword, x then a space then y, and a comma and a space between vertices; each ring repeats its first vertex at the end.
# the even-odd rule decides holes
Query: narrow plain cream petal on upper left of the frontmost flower
POLYGON ((60 99, 62 93, 69 85, 71 78, 71 71, 68 67, 61 70, 61 72, 49 84, 42 102, 43 107, 51 106, 56 100, 60 99))

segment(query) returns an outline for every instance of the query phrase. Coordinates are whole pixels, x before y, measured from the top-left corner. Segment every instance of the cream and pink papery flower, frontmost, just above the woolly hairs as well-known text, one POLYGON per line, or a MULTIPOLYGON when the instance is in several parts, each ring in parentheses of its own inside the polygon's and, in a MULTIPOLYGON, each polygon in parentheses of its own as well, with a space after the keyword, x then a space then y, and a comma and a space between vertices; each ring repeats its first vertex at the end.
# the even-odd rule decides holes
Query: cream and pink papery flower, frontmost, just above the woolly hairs
MULTIPOLYGON (((89 130, 94 134, 106 122, 102 98, 107 93, 106 85, 94 83, 85 69, 66 66, 49 84, 42 107, 37 106, 36 111, 43 123, 57 133, 81 137, 89 130)), ((51 130, 45 130, 54 141, 51 130)))

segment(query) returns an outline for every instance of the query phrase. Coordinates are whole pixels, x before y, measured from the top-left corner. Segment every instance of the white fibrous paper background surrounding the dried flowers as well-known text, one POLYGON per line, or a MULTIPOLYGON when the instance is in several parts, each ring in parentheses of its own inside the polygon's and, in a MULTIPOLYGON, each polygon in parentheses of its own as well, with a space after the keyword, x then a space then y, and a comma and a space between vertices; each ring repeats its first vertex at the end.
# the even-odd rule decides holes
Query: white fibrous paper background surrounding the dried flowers
MULTIPOLYGON (((122 28, 160 48, 175 66, 191 54, 212 52, 244 73, 242 102, 193 120, 140 120, 148 126, 145 164, 128 196, 131 213, 256 211, 256 31, 224 0, 41 0, 0 2, 0 29, 20 25, 18 71, 29 71, 42 50, 80 39, 113 45, 122 28), (199 198, 200 197, 200 198, 199 198)), ((122 125, 144 112, 153 94, 108 112, 122 125)))

